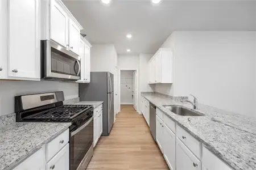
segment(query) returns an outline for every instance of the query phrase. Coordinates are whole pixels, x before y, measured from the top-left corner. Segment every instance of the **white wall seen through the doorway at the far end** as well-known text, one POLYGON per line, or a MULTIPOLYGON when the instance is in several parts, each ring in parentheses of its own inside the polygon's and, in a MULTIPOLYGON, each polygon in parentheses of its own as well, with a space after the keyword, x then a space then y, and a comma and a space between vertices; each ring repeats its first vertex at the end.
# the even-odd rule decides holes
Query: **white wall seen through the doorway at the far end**
POLYGON ((133 104, 133 73, 131 70, 120 71, 120 101, 121 104, 133 104))

